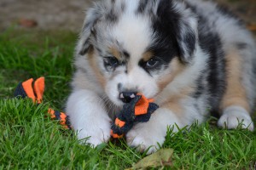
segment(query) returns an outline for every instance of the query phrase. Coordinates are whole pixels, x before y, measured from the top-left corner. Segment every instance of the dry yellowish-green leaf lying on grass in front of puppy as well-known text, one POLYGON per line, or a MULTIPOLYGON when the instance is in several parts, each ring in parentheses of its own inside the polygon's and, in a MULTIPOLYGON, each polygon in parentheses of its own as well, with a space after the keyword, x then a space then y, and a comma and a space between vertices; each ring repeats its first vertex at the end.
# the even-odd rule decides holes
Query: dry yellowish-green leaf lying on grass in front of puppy
POLYGON ((141 161, 138 161, 133 167, 126 169, 143 169, 147 167, 171 167, 172 166, 172 149, 161 149, 154 154, 144 157, 141 161))

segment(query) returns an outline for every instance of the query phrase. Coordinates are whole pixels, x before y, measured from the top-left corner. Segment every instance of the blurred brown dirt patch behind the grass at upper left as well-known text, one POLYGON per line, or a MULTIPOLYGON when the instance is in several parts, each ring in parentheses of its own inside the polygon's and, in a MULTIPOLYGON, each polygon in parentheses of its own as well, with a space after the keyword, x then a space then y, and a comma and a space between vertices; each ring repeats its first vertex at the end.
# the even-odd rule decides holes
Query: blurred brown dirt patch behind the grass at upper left
POLYGON ((91 0, 1 0, 0 29, 28 20, 35 21, 39 29, 79 31, 90 3, 91 0))

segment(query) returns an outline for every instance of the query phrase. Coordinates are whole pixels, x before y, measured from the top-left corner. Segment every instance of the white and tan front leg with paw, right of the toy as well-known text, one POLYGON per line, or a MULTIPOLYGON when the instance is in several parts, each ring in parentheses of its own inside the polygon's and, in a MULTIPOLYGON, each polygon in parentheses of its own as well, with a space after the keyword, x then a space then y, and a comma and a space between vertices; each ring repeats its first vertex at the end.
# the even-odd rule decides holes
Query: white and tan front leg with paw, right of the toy
POLYGON ((183 99, 183 102, 173 100, 160 106, 148 122, 137 123, 132 127, 126 134, 127 143, 139 151, 149 148, 147 154, 155 152, 165 142, 167 127, 172 127, 172 132, 175 133, 179 128, 190 126, 195 121, 201 123, 205 120, 204 114, 207 112, 199 111, 192 104, 195 104, 194 99, 183 99))

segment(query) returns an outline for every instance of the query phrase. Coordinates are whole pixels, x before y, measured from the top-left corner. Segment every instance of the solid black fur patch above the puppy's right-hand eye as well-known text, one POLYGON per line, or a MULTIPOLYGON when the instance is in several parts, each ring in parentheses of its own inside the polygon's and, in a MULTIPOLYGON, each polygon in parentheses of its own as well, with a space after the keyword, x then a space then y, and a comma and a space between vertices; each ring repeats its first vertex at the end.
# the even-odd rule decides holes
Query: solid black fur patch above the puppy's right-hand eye
POLYGON ((166 64, 180 54, 176 38, 179 33, 180 17, 173 8, 172 1, 162 0, 157 9, 157 16, 152 19, 152 28, 156 36, 148 51, 152 51, 166 64))

